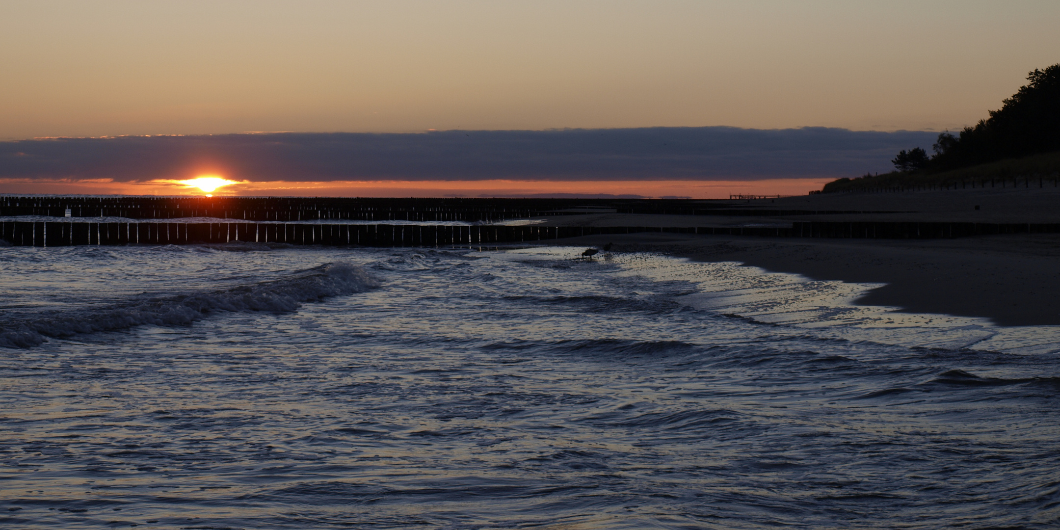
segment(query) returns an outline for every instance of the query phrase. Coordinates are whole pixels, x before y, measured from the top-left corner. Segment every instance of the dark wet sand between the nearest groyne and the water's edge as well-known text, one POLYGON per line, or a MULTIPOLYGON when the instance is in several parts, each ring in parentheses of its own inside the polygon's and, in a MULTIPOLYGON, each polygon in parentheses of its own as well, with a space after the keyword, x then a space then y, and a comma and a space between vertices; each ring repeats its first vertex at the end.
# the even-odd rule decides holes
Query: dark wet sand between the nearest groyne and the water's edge
POLYGON ((1060 325, 1060 234, 956 240, 774 238, 636 233, 549 242, 741 262, 814 280, 883 283, 859 305, 988 318, 997 325, 1060 325))

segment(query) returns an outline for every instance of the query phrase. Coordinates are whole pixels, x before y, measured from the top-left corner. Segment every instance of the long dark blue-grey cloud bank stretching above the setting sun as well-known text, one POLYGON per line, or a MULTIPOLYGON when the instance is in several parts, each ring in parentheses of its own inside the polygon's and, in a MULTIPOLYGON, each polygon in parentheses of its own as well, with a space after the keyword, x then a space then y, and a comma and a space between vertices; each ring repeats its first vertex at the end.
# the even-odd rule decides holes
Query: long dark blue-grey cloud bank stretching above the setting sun
POLYGON ((144 181, 757 180, 889 171, 936 132, 651 127, 271 132, 0 142, 0 177, 144 181))

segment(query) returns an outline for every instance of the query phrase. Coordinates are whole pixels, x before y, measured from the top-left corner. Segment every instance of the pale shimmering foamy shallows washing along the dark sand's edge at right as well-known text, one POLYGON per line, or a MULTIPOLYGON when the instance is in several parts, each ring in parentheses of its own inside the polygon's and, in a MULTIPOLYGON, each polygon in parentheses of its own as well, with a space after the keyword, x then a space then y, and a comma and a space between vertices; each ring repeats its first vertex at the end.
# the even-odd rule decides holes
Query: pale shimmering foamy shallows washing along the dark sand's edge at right
MULTIPOLYGON (((570 260, 583 248, 535 247, 510 252, 570 260)), ((654 253, 623 252, 602 261, 621 267, 613 272, 616 276, 694 286, 694 292, 674 297, 679 303, 755 322, 800 328, 819 337, 943 350, 1060 352, 1057 325, 1001 326, 987 318, 856 303, 858 298, 883 284, 819 281, 737 262, 693 262, 654 253)))

